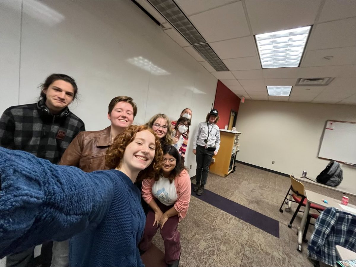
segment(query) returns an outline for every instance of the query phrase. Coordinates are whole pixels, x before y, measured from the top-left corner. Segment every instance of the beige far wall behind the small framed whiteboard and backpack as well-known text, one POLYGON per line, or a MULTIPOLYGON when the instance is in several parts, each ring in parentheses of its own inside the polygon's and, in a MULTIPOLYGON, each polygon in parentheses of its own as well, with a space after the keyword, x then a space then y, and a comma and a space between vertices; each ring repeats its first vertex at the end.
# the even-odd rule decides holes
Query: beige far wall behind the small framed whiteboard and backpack
MULTIPOLYGON (((236 159, 316 178, 329 162, 318 158, 326 120, 356 121, 356 106, 246 100, 237 115, 236 130, 243 134, 236 159)), ((356 167, 341 168, 342 187, 356 194, 356 167)))

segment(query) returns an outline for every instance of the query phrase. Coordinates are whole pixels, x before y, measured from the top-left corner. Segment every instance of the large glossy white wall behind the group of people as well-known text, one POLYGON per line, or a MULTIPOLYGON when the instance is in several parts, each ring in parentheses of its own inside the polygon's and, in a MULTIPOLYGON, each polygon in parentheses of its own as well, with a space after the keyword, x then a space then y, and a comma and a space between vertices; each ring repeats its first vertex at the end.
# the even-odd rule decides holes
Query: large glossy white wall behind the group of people
MULTIPOLYGON (((51 73, 76 79, 80 101, 69 108, 87 130, 109 125, 108 104, 118 95, 137 103, 135 124, 158 112, 178 119, 191 108, 192 134, 211 109, 217 79, 131 1, 0 1, 0 10, 1 113, 34 103, 51 73), (140 56, 168 74, 128 62, 140 56)), ((186 162, 194 176, 191 152, 186 162)))

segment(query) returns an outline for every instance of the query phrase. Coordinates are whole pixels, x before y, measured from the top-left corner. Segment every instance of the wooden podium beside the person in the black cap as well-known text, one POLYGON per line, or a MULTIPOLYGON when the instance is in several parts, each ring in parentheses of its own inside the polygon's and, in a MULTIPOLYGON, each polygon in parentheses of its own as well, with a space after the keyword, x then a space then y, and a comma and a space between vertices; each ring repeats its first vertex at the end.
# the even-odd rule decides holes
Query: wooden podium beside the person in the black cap
POLYGON ((210 172, 227 176, 234 169, 236 152, 239 151, 239 136, 242 132, 220 129, 220 148, 210 164, 210 172))

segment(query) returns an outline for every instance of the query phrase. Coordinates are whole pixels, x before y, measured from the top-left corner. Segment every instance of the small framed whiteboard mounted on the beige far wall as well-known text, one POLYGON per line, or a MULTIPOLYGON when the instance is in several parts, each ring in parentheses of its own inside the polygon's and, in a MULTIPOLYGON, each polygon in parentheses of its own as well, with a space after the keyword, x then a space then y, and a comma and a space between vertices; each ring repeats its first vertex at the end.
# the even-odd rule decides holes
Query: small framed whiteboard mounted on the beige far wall
POLYGON ((318 157, 356 164, 356 123, 326 121, 318 157))

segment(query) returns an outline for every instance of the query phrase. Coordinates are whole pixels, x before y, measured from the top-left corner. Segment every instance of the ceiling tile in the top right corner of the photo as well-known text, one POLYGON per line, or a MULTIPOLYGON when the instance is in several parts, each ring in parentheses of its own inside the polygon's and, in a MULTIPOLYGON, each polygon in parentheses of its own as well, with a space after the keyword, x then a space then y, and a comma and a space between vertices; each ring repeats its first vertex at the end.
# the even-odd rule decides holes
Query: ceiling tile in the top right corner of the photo
POLYGON ((356 16, 355 0, 328 0, 325 1, 318 22, 345 19, 356 16))

